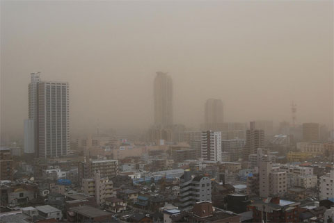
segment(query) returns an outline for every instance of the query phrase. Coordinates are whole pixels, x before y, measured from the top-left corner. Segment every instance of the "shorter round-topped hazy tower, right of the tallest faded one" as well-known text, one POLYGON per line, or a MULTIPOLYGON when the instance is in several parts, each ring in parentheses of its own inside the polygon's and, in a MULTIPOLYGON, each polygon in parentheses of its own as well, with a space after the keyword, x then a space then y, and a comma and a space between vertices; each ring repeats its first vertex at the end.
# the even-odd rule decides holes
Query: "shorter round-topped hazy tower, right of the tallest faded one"
POLYGON ((207 99, 205 102, 205 130, 220 130, 223 126, 223 102, 207 99))

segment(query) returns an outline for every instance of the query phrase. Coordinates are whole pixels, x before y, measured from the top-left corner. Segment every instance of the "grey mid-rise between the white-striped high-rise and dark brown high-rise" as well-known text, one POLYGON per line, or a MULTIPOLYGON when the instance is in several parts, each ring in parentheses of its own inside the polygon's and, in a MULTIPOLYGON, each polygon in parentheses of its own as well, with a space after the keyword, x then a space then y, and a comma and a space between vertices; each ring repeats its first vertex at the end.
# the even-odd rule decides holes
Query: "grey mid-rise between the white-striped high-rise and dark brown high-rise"
POLYGON ((237 161, 241 158, 242 148, 244 148, 246 140, 234 138, 232 140, 221 140, 221 151, 230 156, 231 161, 237 161))

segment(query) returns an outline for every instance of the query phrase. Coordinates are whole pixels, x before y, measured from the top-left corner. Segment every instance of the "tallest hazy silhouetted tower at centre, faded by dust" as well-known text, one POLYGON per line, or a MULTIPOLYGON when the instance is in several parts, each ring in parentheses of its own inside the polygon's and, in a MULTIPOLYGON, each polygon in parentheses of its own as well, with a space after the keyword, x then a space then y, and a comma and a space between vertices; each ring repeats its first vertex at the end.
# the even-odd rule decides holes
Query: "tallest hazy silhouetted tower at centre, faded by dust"
POLYGON ((172 78, 157 72, 154 79, 154 126, 164 129, 173 125, 173 82, 172 78))

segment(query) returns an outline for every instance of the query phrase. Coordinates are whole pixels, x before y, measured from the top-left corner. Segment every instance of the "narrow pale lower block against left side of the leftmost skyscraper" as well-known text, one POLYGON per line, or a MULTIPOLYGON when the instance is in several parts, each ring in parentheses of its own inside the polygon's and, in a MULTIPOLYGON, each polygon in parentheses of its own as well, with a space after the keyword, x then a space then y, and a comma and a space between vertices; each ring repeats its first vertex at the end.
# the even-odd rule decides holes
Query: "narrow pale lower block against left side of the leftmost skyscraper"
POLYGON ((24 154, 35 153, 35 120, 24 120, 24 154))

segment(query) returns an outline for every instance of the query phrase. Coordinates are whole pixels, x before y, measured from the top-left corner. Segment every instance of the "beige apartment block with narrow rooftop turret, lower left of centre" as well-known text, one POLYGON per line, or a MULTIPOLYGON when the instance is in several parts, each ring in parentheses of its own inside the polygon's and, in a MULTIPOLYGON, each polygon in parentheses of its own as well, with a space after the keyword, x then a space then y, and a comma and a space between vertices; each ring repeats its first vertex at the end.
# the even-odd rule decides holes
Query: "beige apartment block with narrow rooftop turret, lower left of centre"
POLYGON ((86 195, 94 196, 97 205, 104 205, 107 198, 113 197, 113 181, 101 176, 100 172, 93 174, 93 179, 82 179, 82 190, 86 195))

